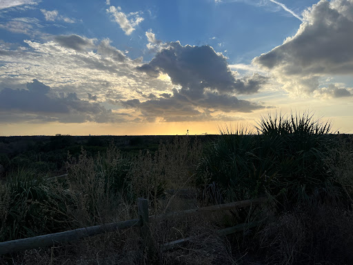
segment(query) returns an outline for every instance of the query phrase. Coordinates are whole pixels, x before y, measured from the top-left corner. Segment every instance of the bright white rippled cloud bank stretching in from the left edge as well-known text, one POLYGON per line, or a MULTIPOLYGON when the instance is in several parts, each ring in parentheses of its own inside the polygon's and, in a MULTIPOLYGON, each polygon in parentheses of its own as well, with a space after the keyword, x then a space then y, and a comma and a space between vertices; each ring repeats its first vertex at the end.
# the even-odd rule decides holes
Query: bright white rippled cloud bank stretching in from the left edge
MULTIPOLYGON (((3 66, 0 68, 0 90, 26 88, 23 84, 29 79, 38 79, 65 95, 76 92, 81 99, 87 99, 87 93, 95 95, 104 101, 100 104, 121 114, 123 106, 119 102, 112 106, 111 102, 145 99, 135 92, 137 89, 144 95, 159 95, 172 89, 170 80, 150 79, 136 70, 142 59, 132 60, 123 55, 108 39, 97 41, 92 50, 88 50, 92 41, 85 41, 82 36, 77 39, 79 44, 70 38, 70 41, 64 38, 61 44, 29 40, 24 41, 23 46, 0 43, 3 66)), ((138 113, 134 115, 136 117, 138 113)))

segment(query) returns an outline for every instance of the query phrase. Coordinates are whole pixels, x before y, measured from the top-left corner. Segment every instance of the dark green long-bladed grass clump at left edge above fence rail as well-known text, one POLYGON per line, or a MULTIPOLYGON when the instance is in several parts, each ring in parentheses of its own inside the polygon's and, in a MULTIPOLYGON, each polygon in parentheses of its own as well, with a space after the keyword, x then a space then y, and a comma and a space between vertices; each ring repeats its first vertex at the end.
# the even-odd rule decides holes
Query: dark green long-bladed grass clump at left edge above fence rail
POLYGON ((45 176, 34 170, 19 169, 8 175, 0 188, 0 239, 31 237, 62 229, 64 219, 52 222, 45 207, 54 196, 45 176))

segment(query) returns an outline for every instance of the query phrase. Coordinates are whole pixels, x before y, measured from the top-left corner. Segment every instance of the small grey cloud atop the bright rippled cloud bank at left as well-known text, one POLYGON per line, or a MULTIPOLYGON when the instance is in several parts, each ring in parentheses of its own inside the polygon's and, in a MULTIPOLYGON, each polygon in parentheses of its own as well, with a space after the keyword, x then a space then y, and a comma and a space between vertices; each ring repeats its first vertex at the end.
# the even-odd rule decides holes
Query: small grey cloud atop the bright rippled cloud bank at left
POLYGON ((93 48, 96 39, 88 39, 79 35, 58 35, 54 37, 54 40, 65 48, 82 51, 93 48))

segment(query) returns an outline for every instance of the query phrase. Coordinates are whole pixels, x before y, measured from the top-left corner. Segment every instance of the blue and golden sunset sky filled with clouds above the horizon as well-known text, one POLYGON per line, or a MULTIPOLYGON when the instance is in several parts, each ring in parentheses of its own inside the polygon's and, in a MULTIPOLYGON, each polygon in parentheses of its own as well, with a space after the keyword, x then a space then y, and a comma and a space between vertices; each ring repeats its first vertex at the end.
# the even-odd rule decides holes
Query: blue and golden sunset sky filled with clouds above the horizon
POLYGON ((353 133, 353 0, 0 0, 0 135, 353 133))

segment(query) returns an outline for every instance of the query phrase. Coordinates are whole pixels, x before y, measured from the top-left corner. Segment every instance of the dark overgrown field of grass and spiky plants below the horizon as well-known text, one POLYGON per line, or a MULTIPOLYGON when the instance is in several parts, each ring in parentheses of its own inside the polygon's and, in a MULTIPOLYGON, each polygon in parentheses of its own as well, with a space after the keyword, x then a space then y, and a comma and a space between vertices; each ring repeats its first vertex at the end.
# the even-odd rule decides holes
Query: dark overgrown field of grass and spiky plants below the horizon
POLYGON ((353 137, 312 116, 220 135, 0 137, 0 241, 267 197, 262 206, 151 222, 0 257, 1 264, 351 264, 353 137), (57 175, 68 174, 64 177, 57 175), (259 222, 240 233, 216 230, 259 222), (159 246, 192 239, 180 248, 159 246))

